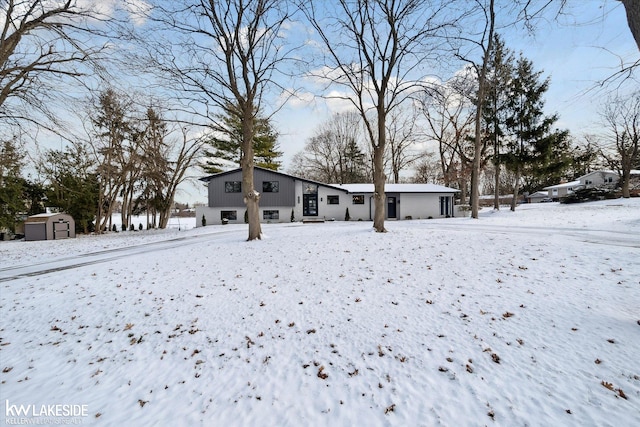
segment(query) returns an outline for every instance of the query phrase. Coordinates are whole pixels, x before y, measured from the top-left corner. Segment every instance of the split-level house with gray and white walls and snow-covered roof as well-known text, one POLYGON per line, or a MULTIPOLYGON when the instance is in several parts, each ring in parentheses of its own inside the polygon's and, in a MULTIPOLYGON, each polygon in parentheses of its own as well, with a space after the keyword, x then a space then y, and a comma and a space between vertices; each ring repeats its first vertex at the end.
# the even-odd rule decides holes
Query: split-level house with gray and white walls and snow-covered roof
MULTIPOLYGON (((260 193, 262 222, 300 220, 373 219, 373 184, 332 185, 298 178, 260 167, 254 168, 254 187, 260 193)), ((243 223, 246 206, 242 169, 201 178, 208 186, 208 205, 196 207, 196 223, 243 223)), ((443 218, 454 216, 458 190, 433 184, 387 184, 387 219, 443 218)))

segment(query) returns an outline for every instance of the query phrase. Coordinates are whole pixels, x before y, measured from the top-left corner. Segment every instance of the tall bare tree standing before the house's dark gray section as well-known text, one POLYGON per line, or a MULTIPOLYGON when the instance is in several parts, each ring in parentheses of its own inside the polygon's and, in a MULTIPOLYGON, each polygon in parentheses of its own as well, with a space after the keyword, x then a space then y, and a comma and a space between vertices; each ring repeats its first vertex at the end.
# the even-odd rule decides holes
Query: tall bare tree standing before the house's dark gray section
MULTIPOLYGON (((264 96, 278 87, 274 74, 288 60, 283 33, 290 20, 284 0, 156 1, 157 24, 147 45, 151 65, 181 92, 193 112, 214 123, 216 110, 242 124, 242 192, 248 240, 260 239, 260 193, 254 188, 255 121, 264 96), (159 36, 167 32, 163 38, 159 36), (158 33, 159 32, 159 33, 158 33)), ((205 123, 206 124, 206 123, 205 123)))

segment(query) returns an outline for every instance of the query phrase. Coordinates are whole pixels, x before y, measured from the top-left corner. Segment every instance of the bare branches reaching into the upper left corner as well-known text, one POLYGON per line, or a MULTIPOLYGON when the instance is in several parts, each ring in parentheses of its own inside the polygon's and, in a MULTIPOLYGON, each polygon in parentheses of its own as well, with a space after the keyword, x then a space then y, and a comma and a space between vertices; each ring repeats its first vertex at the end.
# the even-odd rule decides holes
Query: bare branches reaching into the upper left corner
POLYGON ((104 16, 89 2, 3 0, 0 6, 0 119, 42 125, 36 111, 55 120, 48 103, 68 79, 96 71, 92 59, 104 16), (89 36, 89 37, 88 37, 89 36), (89 68, 88 66, 91 66, 89 68))

